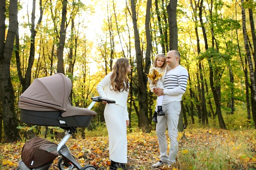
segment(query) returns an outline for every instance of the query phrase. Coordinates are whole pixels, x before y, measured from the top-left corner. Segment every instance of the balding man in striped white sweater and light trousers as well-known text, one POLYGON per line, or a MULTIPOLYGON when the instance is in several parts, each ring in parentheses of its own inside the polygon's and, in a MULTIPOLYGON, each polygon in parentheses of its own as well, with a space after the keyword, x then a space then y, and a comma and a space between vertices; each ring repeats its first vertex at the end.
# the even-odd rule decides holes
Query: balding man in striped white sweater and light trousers
POLYGON ((188 81, 188 71, 180 65, 180 53, 177 50, 171 50, 166 54, 166 62, 171 67, 164 77, 164 89, 155 88, 154 93, 164 95, 162 109, 166 113, 165 116, 157 116, 156 133, 158 138, 160 161, 153 164, 153 168, 169 164, 171 168, 176 163, 179 143, 178 121, 181 111, 182 95, 186 91, 188 81), (166 128, 170 138, 169 155, 167 155, 166 128))

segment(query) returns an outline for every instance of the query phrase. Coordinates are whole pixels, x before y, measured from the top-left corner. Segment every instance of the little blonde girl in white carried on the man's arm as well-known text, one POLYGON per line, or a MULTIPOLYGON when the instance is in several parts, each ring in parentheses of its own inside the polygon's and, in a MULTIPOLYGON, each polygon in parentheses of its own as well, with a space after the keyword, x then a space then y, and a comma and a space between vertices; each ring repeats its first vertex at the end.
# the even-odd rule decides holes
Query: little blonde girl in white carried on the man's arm
MULTIPOLYGON (((154 92, 154 88, 158 87, 158 88, 162 88, 164 89, 164 76, 166 71, 169 71, 171 68, 168 66, 168 64, 166 63, 166 56, 164 54, 157 54, 155 56, 155 60, 153 62, 153 65, 151 66, 151 68, 149 69, 149 73, 153 72, 154 70, 159 71, 159 73, 164 73, 162 75, 162 77, 160 77, 159 79, 157 79, 157 81, 153 82, 153 80, 148 78, 148 82, 149 82, 149 88, 151 92, 154 92)), ((153 121, 155 123, 157 123, 157 116, 163 116, 165 115, 165 113, 162 110, 162 100, 164 98, 164 95, 158 96, 157 97, 157 105, 155 107, 155 113, 152 117, 153 121)))

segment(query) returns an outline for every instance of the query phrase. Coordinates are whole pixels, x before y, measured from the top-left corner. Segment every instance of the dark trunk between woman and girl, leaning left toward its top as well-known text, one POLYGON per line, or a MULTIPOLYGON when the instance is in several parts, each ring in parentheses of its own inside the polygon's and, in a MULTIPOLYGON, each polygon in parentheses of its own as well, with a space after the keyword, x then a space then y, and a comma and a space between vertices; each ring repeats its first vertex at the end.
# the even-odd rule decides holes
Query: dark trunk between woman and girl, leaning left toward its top
POLYGON ((135 51, 137 62, 137 74, 138 74, 138 98, 139 98, 139 127, 143 132, 150 132, 148 124, 148 101, 147 101, 147 78, 143 71, 142 54, 140 48, 139 31, 137 28, 137 16, 135 9, 135 2, 131 0, 132 9, 132 23, 135 35, 135 51))

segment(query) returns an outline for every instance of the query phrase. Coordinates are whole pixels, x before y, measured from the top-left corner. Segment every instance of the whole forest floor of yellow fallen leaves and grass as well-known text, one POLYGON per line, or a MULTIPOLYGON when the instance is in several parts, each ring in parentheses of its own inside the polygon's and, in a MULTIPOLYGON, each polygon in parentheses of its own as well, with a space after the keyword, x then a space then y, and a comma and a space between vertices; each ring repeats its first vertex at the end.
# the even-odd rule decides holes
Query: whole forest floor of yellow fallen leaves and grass
MULTIPOLYGON (((184 132, 172 170, 256 170, 256 130, 196 128, 184 132)), ((132 132, 127 138, 127 170, 168 169, 167 165, 151 168, 159 160, 155 131, 132 132)), ((22 141, 0 144, 0 169, 16 170, 24 144, 22 141)), ((81 166, 92 164, 98 170, 109 170, 107 136, 69 139, 66 145, 81 166)), ((57 164, 58 158, 49 170, 58 170, 57 164)))

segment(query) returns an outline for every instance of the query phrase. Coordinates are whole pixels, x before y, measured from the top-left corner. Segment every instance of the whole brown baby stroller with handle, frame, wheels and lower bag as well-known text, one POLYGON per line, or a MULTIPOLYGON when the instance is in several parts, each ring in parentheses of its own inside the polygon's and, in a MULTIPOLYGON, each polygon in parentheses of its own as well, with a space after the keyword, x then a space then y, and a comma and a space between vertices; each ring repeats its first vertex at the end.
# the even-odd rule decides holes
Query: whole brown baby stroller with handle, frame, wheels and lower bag
MULTIPOLYGON (((55 148, 52 146, 54 145, 53 142, 47 142, 46 139, 39 137, 32 138, 37 146, 40 143, 40 139, 43 139, 48 146, 51 145, 51 148, 54 148, 49 151, 49 148, 45 148, 47 145, 40 146, 45 150, 48 149, 49 153, 54 154, 55 152, 55 156, 47 163, 43 163, 47 156, 45 158, 42 157, 42 155, 46 154, 34 155, 31 158, 33 160, 30 160, 31 154, 26 153, 25 155, 25 146, 31 149, 31 146, 28 146, 27 143, 32 141, 32 139, 26 142, 22 148, 21 159, 18 162, 19 167, 17 170, 48 170, 58 155, 61 156, 58 160, 58 168, 60 170, 97 170, 97 168, 90 164, 82 167, 70 153, 65 143, 76 132, 76 128, 88 127, 90 125, 92 118, 97 115, 96 112, 90 110, 96 102, 106 101, 108 103, 115 103, 115 101, 103 99, 102 97, 92 97, 92 103, 88 108, 74 107, 71 106, 69 99, 71 89, 71 80, 62 73, 56 73, 48 77, 34 79, 32 84, 20 96, 18 105, 20 108, 21 122, 39 126, 58 126, 66 131, 65 136, 59 144, 55 144, 55 148), (39 165, 37 167, 31 166, 36 165, 35 160, 38 163, 37 165, 39 165), (25 161, 29 161, 29 163, 25 161)), ((37 148, 36 150, 38 151, 39 149, 37 148)), ((43 153, 48 152, 44 151, 43 153)))

